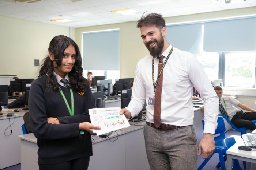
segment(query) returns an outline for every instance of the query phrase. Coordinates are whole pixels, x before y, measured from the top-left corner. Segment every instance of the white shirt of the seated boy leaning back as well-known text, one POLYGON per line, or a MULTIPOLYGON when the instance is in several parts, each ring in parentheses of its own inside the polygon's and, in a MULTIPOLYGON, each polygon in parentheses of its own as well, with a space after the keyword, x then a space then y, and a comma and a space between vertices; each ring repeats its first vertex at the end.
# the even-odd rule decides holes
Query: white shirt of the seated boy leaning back
MULTIPOLYGON (((233 118, 233 116, 240 111, 238 108, 236 108, 236 106, 240 103, 237 99, 232 98, 231 96, 222 96, 225 100, 225 103, 223 101, 223 98, 221 98, 220 102, 222 104, 222 106, 225 108, 225 110, 227 111, 227 115, 229 115, 229 120, 231 120, 233 118)), ((220 112, 219 112, 220 114, 220 112)))

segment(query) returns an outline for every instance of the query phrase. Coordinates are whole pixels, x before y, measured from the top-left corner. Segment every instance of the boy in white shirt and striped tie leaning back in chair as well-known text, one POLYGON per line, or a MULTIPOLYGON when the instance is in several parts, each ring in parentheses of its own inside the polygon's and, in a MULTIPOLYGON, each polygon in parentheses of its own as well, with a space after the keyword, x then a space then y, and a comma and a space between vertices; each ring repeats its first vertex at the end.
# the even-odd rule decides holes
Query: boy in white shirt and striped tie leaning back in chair
MULTIPOLYGON (((219 114, 225 115, 237 128, 246 127, 251 131, 256 129, 256 125, 251 122, 251 120, 256 120, 256 110, 245 106, 231 96, 222 96, 221 86, 214 86, 213 88, 219 97, 219 114), (236 106, 250 112, 243 112, 236 106)), ((204 108, 202 108, 203 110, 204 108)))

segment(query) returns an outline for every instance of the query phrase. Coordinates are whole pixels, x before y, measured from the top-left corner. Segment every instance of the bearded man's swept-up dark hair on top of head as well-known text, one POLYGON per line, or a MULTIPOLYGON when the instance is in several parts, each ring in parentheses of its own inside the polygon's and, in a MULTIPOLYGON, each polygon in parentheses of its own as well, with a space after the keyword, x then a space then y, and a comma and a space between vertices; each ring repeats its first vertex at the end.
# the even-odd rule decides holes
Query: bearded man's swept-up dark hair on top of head
POLYGON ((137 28, 142 26, 155 25, 159 31, 165 27, 165 20, 163 16, 158 13, 150 13, 147 16, 143 16, 137 21, 137 28))

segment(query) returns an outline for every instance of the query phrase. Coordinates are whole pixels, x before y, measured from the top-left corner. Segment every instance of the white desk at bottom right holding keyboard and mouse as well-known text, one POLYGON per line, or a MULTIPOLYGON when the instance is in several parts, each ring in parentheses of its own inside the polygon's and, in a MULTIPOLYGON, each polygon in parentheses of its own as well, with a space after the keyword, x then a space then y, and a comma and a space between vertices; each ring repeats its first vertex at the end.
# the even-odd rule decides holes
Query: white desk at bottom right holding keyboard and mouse
MULTIPOLYGON (((227 170, 232 169, 232 159, 246 161, 246 169, 249 169, 250 163, 256 163, 256 151, 239 150, 238 146, 245 145, 242 138, 237 139, 236 143, 227 150, 227 170)), ((242 166, 242 165, 240 165, 242 166)))

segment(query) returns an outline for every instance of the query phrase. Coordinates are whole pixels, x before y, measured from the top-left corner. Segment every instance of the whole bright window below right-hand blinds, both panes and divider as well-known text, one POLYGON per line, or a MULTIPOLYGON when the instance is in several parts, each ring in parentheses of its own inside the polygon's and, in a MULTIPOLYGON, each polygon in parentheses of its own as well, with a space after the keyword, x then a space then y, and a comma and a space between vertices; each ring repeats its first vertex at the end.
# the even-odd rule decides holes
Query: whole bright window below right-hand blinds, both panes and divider
POLYGON ((224 86, 253 87, 256 52, 218 52, 197 56, 210 80, 222 79, 224 86))

